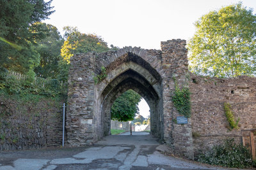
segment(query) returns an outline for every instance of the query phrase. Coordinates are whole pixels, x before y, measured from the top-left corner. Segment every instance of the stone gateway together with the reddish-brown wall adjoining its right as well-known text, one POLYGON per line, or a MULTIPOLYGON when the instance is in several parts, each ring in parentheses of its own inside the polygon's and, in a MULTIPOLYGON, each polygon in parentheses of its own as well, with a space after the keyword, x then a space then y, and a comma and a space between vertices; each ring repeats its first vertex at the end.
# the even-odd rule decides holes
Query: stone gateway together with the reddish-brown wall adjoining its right
POLYGON ((106 53, 83 53, 72 57, 70 64, 66 128, 71 146, 88 145, 108 136, 111 105, 129 89, 147 101, 152 135, 190 159, 223 138, 239 141, 241 129, 256 128, 256 78, 220 79, 189 73, 185 40, 161 42, 161 50, 129 46, 106 53), (102 67, 106 68, 104 74, 102 67), (97 75, 101 76, 95 83, 97 75), (189 87, 191 92, 188 124, 174 121, 181 115, 172 103, 173 76, 180 87, 189 87), (240 118, 238 130, 228 130, 225 102, 240 118))

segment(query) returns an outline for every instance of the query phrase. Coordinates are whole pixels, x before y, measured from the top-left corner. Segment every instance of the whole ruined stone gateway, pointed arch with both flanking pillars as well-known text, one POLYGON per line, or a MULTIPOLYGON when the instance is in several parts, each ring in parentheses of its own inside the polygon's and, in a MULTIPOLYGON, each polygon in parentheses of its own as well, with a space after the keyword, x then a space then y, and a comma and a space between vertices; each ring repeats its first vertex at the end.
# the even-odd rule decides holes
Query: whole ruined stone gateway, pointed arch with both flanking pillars
POLYGON ((173 76, 182 85, 188 73, 185 45, 186 41, 173 39, 161 42, 161 50, 129 46, 72 57, 68 77, 68 144, 88 145, 108 136, 111 105, 120 94, 132 89, 150 106, 152 134, 172 146, 174 152, 192 158, 191 121, 184 126, 173 123, 179 113, 171 98, 175 89, 173 76), (106 76, 95 83, 93 77, 101 74, 102 67, 106 76))

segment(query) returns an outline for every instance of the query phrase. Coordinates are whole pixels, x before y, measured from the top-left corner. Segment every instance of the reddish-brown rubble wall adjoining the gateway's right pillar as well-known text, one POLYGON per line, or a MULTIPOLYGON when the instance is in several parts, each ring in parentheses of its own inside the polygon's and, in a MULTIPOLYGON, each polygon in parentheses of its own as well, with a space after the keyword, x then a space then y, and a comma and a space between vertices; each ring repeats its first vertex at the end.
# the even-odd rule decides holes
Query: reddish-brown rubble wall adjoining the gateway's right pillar
POLYGON ((256 78, 205 78, 191 74, 191 120, 195 155, 225 138, 241 143, 241 130, 256 129, 256 78), (223 104, 230 103, 239 129, 229 130, 223 104))

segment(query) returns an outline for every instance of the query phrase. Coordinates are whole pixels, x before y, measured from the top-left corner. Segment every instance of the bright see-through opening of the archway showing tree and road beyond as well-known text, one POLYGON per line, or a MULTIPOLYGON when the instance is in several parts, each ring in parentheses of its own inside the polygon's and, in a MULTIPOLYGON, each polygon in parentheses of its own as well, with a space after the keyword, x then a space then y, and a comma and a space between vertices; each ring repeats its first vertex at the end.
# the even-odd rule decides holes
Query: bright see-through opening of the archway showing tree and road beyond
POLYGON ((127 90, 111 106, 111 135, 150 134, 150 108, 147 101, 127 90))

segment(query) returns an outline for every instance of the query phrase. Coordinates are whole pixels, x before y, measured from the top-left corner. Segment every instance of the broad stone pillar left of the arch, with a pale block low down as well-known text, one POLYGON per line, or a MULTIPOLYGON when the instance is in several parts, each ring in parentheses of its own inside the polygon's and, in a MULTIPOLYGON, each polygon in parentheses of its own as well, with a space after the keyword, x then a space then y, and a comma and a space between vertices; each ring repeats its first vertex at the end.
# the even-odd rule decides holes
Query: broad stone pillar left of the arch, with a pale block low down
POLYGON ((93 53, 86 53, 72 57, 70 61, 66 121, 70 146, 83 146, 95 141, 94 60, 93 53))

